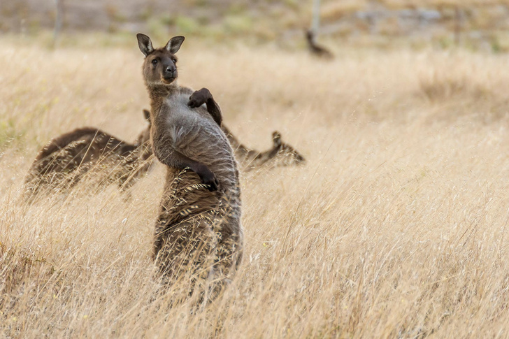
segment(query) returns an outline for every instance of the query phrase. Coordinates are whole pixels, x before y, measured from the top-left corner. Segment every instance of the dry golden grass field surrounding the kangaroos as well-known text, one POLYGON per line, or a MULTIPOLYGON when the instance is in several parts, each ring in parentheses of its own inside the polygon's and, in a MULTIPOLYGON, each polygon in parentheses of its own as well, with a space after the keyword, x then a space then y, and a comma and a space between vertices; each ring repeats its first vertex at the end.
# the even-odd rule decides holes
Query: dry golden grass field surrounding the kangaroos
POLYGON ((509 336, 506 55, 337 48, 322 62, 185 41, 180 85, 208 87, 246 145, 278 129, 308 160, 243 174, 243 264, 191 312, 168 307, 150 261, 162 165, 130 200, 21 197, 52 136, 145 127, 136 38, 0 42, 1 337, 509 336))

